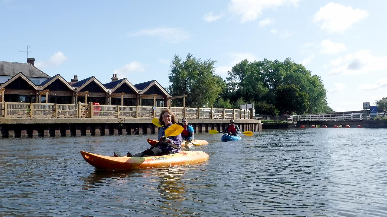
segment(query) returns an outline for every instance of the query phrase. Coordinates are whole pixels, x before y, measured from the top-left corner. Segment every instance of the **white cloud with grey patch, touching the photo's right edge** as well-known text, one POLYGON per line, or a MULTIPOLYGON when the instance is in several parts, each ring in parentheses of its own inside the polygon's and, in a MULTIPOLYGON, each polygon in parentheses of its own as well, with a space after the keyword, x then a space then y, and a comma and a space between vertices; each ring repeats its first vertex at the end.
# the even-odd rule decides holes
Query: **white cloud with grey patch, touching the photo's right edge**
POLYGON ((370 74, 387 70, 387 56, 373 56, 368 50, 340 56, 330 62, 335 67, 328 75, 370 74))

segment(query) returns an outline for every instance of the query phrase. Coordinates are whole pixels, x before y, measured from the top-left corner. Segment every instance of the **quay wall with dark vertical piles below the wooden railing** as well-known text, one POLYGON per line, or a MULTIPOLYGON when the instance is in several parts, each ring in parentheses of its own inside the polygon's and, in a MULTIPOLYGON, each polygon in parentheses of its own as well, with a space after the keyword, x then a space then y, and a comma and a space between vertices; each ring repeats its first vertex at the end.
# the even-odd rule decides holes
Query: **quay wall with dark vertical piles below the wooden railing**
MULTIPOLYGON (((188 120, 195 133, 208 133, 211 129, 222 131, 229 119, 188 120)), ((85 119, 85 118, 0 118, 0 136, 55 137, 55 136, 107 136, 126 134, 156 134, 158 127, 152 119, 85 119)), ((262 131, 260 120, 235 119, 241 131, 262 131)))

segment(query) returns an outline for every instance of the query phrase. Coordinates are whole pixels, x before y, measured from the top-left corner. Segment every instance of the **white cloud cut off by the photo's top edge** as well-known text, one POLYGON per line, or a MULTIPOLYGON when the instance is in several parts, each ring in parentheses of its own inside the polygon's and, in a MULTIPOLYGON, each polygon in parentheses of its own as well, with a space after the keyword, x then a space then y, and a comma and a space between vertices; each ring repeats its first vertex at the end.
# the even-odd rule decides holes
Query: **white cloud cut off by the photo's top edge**
POLYGON ((298 5, 299 0, 231 0, 228 10, 236 15, 241 15, 241 23, 256 20, 265 9, 275 9, 283 5, 298 5))

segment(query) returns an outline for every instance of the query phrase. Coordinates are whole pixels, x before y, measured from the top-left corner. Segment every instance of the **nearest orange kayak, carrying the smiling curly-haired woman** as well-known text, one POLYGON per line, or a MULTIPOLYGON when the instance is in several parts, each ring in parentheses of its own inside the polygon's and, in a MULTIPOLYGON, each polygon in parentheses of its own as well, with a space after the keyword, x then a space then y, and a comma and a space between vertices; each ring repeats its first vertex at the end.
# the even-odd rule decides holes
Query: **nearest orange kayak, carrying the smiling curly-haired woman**
POLYGON ((80 151, 83 159, 100 170, 134 170, 139 168, 182 166, 206 161, 209 156, 204 151, 181 151, 153 157, 113 157, 80 151))

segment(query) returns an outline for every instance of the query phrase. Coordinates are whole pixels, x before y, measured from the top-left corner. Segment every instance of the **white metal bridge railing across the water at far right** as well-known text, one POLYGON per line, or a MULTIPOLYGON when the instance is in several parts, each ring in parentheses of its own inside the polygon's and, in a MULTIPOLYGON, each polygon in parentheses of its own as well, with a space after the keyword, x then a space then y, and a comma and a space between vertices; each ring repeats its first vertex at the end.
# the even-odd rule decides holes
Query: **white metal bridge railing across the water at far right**
MULTIPOLYGON (((382 116, 383 112, 378 112, 382 116)), ((293 115, 293 121, 339 121, 339 120, 370 120, 371 114, 367 113, 364 117, 363 113, 353 114, 312 114, 312 115, 293 115)))

